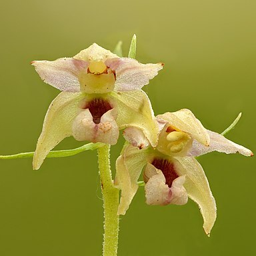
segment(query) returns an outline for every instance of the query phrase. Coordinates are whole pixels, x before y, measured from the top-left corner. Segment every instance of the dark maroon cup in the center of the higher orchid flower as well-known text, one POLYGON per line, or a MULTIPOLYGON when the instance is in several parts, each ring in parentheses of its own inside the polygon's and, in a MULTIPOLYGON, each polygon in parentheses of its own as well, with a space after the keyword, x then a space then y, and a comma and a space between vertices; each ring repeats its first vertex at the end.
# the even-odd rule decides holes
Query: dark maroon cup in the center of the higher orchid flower
POLYGON ((110 109, 113 109, 108 101, 105 99, 97 98, 86 103, 83 109, 89 109, 91 115, 93 116, 93 123, 99 124, 101 122, 101 117, 110 109))

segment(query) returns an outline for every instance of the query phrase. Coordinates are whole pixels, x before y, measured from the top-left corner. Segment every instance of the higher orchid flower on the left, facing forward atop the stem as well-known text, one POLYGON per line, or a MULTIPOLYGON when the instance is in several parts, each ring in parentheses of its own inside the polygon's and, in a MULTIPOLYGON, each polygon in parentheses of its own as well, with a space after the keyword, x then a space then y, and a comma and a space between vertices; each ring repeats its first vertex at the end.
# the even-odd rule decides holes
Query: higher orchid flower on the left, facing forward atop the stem
POLYGON ((63 91, 45 116, 34 169, 39 169, 49 151, 71 135, 78 141, 114 145, 119 129, 133 126, 156 145, 157 122, 141 88, 157 75, 163 63, 141 64, 93 43, 74 57, 33 61, 32 65, 45 83, 63 91))

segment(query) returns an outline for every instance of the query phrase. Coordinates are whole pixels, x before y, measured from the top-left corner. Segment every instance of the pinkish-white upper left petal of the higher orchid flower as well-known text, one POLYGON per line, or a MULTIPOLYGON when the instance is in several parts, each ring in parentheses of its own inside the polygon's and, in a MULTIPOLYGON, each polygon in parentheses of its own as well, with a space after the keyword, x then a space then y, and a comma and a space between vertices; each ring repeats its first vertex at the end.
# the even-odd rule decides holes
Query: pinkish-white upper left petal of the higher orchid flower
POLYGON ((61 91, 80 91, 79 72, 88 63, 79 59, 61 58, 56 61, 33 61, 41 79, 61 91))

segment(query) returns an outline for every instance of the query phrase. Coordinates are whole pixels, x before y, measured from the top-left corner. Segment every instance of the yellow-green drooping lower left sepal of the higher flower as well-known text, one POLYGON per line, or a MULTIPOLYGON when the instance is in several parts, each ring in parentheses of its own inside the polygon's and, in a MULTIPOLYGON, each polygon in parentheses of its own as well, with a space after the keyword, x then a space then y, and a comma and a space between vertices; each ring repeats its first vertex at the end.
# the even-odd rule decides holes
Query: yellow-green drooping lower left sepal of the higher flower
POLYGON ((60 93, 51 103, 43 121, 43 130, 37 141, 33 169, 39 169, 53 147, 72 135, 73 119, 77 115, 81 93, 60 93))

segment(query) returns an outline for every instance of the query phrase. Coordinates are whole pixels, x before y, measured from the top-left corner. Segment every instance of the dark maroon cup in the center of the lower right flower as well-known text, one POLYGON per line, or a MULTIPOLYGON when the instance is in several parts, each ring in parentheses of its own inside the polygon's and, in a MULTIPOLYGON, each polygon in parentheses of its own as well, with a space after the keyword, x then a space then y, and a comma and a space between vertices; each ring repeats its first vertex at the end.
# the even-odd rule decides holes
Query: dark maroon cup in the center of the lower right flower
POLYGON ((168 185, 168 187, 171 187, 173 181, 179 177, 175 171, 173 163, 170 163, 167 159, 155 158, 151 164, 162 171, 165 176, 165 184, 168 185))

